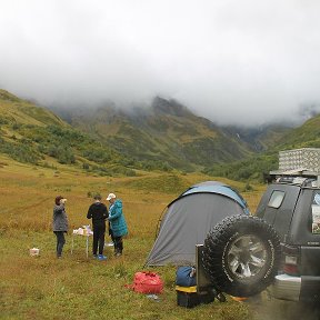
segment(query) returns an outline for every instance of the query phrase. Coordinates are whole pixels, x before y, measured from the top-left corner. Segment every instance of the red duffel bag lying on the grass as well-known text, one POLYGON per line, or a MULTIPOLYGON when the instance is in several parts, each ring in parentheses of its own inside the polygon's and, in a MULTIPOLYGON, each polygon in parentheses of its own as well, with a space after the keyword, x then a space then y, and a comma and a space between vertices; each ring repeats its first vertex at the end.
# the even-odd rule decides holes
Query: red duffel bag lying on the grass
POLYGON ((161 293, 163 281, 156 272, 136 272, 132 289, 140 293, 161 293))

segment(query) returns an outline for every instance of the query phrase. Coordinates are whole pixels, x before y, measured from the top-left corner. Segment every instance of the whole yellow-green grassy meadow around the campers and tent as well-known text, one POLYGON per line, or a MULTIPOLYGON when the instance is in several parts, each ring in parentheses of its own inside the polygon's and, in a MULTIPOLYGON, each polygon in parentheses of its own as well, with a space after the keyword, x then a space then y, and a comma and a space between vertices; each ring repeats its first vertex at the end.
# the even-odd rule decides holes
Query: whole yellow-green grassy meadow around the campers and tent
MULTIPOLYGON (((164 280, 164 290, 154 301, 132 292, 133 274, 143 269, 154 241, 156 227, 166 204, 190 184, 209 180, 200 174, 146 173, 136 178, 92 177, 60 167, 28 167, 0 158, 0 318, 1 319, 253 319, 248 304, 228 297, 194 309, 177 306, 172 267, 156 268, 164 280), (67 236, 64 254, 56 259, 56 237, 51 231, 53 199, 68 198, 70 230, 90 223, 86 214, 91 194, 103 199, 114 192, 123 200, 130 234, 124 254, 107 261, 86 257, 86 242, 67 236), (40 257, 30 257, 30 248, 40 248, 40 257)), ((212 178, 210 179, 212 180, 212 178)), ((243 183, 231 183, 238 190, 243 183)), ((242 192, 251 211, 264 187, 242 192)), ((107 238, 107 241, 109 239, 107 238)), ((91 246, 91 242, 90 242, 91 246)))

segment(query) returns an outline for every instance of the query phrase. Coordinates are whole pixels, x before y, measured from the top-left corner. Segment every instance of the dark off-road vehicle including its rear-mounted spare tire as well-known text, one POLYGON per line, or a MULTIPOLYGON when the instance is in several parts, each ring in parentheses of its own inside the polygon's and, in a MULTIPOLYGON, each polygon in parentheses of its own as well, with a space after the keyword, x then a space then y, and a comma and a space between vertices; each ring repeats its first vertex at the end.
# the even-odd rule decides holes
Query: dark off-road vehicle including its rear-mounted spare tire
POLYGON ((211 230, 199 268, 232 296, 268 287, 274 298, 320 306, 320 177, 307 171, 270 177, 254 216, 228 217, 211 230))

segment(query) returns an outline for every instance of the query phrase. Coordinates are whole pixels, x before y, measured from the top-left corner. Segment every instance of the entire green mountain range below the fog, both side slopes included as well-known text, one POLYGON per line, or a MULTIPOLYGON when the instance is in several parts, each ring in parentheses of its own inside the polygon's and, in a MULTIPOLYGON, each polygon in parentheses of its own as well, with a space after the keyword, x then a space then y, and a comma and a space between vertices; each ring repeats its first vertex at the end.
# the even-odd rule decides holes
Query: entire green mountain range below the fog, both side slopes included
POLYGON ((222 168, 226 163, 228 167, 263 158, 266 151, 276 154, 286 148, 319 147, 320 116, 293 129, 281 124, 222 127, 194 114, 179 101, 161 97, 150 106, 130 110, 112 102, 89 110, 40 107, 0 90, 0 139, 4 146, 0 152, 13 154, 9 151, 13 148, 29 154, 23 157, 34 163, 56 157, 58 162, 94 169, 99 174, 111 174, 112 170, 126 174, 133 174, 132 170, 173 169, 209 172, 212 166, 222 168), (58 159, 59 152, 64 159, 58 159))

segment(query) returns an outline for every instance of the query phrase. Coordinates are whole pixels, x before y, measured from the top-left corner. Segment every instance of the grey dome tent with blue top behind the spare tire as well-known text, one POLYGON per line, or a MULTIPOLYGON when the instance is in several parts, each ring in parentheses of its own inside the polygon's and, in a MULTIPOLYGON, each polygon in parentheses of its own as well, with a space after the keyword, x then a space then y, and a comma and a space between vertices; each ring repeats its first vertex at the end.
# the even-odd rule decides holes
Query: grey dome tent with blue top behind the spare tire
POLYGON ((190 187, 166 209, 146 266, 194 264, 196 244, 211 228, 226 217, 250 213, 239 192, 218 181, 190 187))

